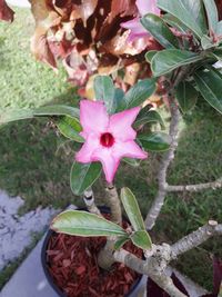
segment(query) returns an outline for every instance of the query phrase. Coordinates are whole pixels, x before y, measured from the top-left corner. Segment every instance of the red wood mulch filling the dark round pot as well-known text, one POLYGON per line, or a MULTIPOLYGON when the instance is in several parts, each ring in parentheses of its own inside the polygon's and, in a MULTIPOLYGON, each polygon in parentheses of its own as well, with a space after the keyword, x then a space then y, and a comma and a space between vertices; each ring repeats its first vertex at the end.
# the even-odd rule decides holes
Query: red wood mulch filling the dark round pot
MULTIPOLYGON (((122 264, 111 271, 98 267, 97 255, 104 246, 104 237, 78 237, 56 234, 48 246, 48 269, 54 284, 68 297, 123 297, 139 275, 122 264)), ((138 257, 142 250, 130 242, 124 248, 138 257)))

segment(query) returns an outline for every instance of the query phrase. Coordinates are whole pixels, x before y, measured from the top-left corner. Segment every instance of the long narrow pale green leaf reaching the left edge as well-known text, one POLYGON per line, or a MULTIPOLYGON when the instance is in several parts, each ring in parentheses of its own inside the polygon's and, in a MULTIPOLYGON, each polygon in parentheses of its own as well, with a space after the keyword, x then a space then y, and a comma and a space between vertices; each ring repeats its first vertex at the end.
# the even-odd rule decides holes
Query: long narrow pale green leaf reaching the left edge
POLYGON ((69 106, 46 106, 37 109, 9 109, 0 111, 0 125, 34 117, 70 116, 79 118, 79 109, 69 106))

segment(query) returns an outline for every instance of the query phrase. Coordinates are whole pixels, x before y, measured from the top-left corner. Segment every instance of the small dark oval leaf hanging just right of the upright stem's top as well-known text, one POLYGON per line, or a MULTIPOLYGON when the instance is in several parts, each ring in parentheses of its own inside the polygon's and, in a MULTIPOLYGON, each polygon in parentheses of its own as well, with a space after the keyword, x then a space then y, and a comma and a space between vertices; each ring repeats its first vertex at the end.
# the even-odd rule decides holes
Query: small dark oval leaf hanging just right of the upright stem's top
POLYGON ((199 92, 190 82, 182 81, 176 88, 175 97, 181 110, 185 113, 195 106, 199 92))

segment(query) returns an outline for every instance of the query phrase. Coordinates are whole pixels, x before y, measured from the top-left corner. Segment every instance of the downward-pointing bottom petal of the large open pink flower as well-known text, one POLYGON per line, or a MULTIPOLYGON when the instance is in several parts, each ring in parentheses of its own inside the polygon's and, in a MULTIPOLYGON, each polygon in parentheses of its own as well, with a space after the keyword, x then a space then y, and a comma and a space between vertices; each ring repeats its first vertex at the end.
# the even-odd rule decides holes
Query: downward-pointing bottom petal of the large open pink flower
POLYGON ((112 156, 111 149, 101 147, 93 152, 93 160, 101 161, 107 181, 112 182, 118 166, 120 165, 120 159, 112 156))

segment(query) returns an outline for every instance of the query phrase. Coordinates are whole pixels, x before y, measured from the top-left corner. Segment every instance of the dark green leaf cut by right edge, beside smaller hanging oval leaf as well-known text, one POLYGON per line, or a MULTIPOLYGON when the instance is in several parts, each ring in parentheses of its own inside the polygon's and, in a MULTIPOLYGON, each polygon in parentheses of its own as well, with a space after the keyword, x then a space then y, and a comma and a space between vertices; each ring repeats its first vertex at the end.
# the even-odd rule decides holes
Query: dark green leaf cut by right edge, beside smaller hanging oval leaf
POLYGON ((215 69, 196 71, 194 80, 202 97, 222 113, 222 76, 215 69))

